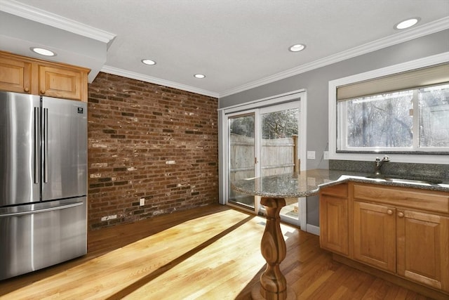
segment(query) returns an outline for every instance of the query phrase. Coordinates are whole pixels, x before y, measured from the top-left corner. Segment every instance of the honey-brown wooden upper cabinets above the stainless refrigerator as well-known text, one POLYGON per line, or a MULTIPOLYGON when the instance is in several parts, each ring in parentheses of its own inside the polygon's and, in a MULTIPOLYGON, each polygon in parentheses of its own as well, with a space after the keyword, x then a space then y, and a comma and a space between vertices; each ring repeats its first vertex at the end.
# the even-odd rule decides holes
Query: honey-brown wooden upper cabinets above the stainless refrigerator
POLYGON ((87 102, 83 67, 51 63, 0 51, 0 90, 87 102))

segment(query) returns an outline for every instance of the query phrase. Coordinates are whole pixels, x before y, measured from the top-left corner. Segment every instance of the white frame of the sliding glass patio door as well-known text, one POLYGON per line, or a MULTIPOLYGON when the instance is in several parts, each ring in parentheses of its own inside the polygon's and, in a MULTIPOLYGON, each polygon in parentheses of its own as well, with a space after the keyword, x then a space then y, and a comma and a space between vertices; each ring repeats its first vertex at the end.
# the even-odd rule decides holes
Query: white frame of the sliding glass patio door
MULTIPOLYGON (((247 103, 243 103, 240 105, 233 105, 229 107, 220 108, 218 110, 218 148, 220 155, 218 156, 219 160, 219 203, 227 204, 227 197, 229 191, 229 179, 228 179, 228 170, 229 170, 229 153, 228 153, 228 116, 231 115, 243 115, 244 113, 248 113, 250 111, 257 111, 262 107, 268 107, 272 105, 280 105, 283 103, 289 103, 293 101, 300 100, 300 145, 299 145, 299 156, 301 159, 300 171, 306 170, 307 166, 307 93, 304 89, 291 91, 289 93, 283 93, 281 95, 272 96, 268 98, 262 98, 259 100, 250 101, 247 103)), ((257 118, 258 119, 258 118, 257 118)), ((255 121, 256 122, 256 121, 255 121)), ((255 123, 255 126, 256 123, 255 123)), ((260 134, 260 126, 255 128, 257 130, 257 136, 261 136, 260 134)), ((256 134, 256 132, 255 132, 256 134)), ((258 141, 260 143, 260 141, 258 141)), ((260 149, 260 147, 259 147, 260 149)), ((257 154, 260 157, 260 154, 257 154)), ((260 168, 256 168, 260 169, 260 168)), ((259 174, 260 176, 260 174, 259 174)), ((299 209, 300 209, 300 225, 301 228, 306 229, 307 225, 307 201, 306 198, 299 198, 299 209)), ((232 206, 231 204, 229 204, 232 206)), ((241 209, 241 207, 239 207, 241 209)), ((248 210, 254 214, 258 214, 260 211, 260 197, 255 196, 255 210, 248 210)))

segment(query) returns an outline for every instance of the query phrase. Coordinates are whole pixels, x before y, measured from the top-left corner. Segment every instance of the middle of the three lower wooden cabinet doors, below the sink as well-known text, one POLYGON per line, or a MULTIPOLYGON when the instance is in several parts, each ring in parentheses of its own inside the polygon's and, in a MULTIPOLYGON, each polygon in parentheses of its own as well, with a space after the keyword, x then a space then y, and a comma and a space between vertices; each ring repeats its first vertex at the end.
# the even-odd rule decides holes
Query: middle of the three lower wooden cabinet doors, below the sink
POLYGON ((396 272, 396 209, 354 202, 354 259, 396 272))

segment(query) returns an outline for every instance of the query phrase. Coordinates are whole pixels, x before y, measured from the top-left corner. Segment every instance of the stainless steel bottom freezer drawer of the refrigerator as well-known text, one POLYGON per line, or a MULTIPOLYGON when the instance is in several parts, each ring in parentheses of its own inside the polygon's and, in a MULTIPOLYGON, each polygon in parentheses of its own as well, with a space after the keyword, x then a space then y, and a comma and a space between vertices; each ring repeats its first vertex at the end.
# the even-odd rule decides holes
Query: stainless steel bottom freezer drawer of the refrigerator
POLYGON ((86 197, 0 209, 0 280, 86 252, 86 197))

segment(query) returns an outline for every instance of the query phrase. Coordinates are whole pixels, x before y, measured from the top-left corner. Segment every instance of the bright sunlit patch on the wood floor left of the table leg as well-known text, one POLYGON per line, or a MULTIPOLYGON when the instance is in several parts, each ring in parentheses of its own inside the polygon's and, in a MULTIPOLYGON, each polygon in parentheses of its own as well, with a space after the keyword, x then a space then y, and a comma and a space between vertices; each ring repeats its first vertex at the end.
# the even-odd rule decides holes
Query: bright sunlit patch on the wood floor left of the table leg
POLYGON ((148 299, 153 294, 154 299, 167 299, 168 295, 170 299, 186 299, 187 295, 210 293, 212 287, 219 289, 233 278, 240 282, 233 287, 239 291, 264 266, 259 247, 264 228, 257 225, 261 220, 234 210, 202 216, 2 298, 29 299, 33 294, 35 299, 107 299, 129 289, 127 299, 148 299), (173 261, 175 266, 170 265, 173 261), (227 278, 222 273, 228 274, 227 278), (152 274, 154 277, 150 276, 148 282, 140 282, 152 274), (134 288, 137 283, 141 286, 134 288))

